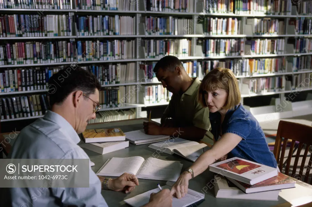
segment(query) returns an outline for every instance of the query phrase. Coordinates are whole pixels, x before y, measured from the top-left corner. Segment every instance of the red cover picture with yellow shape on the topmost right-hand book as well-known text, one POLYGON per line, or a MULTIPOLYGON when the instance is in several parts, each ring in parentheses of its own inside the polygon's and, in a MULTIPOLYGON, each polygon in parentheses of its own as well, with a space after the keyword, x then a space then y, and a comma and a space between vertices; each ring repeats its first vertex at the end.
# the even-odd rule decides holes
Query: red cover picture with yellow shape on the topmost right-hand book
POLYGON ((227 169, 228 171, 233 173, 243 174, 253 169, 260 168, 261 165, 257 165, 240 159, 234 159, 232 161, 217 165, 216 167, 227 169))

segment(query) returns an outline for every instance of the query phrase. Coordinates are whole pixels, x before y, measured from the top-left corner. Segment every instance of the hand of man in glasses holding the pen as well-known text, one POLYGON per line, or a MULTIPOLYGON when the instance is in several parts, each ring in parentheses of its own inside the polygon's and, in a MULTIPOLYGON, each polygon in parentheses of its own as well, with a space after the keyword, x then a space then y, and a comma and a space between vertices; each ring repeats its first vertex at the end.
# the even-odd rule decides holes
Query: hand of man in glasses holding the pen
POLYGON ((149 203, 146 207, 172 207, 172 195, 169 189, 163 189, 158 193, 152 193, 149 198, 149 203))

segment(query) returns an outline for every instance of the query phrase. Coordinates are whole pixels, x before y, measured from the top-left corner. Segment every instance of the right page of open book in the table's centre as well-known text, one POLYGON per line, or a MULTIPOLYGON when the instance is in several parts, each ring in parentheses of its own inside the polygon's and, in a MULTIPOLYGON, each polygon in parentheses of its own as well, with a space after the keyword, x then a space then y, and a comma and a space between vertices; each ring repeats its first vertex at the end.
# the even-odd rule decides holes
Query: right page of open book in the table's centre
POLYGON ((167 161, 148 158, 142 164, 138 178, 151 180, 177 181, 183 164, 178 161, 167 161))

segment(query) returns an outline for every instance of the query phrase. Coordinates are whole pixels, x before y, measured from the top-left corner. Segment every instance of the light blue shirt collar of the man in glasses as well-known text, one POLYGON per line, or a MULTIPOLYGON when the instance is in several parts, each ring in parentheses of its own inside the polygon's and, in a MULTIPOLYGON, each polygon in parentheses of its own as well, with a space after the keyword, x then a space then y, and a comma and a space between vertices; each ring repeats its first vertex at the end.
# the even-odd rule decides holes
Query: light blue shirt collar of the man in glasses
POLYGON ((75 131, 75 129, 60 114, 48 110, 46 114, 44 115, 43 119, 47 119, 59 125, 60 131, 63 132, 65 136, 69 136, 71 140, 74 141, 76 144, 80 142, 80 138, 77 132, 75 131))

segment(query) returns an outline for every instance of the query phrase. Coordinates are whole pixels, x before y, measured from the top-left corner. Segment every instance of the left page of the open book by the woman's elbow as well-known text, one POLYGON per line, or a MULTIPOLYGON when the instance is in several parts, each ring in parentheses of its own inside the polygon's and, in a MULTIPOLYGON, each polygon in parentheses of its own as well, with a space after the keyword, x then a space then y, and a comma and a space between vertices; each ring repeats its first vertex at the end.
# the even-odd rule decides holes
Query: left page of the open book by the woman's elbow
POLYGON ((189 141, 189 140, 185 140, 185 139, 182 139, 182 138, 175 138, 175 139, 170 139, 170 140, 166 140, 166 141, 162 141, 162 142, 157 142, 157 143, 151 144, 149 147, 153 148, 155 150, 162 151, 162 152, 170 150, 170 152, 172 154, 174 149, 178 149, 178 148, 181 148, 181 147, 192 146, 192 145, 199 145, 199 144, 198 144, 198 142, 189 141), (168 150, 166 150, 166 149, 168 149, 168 150))

